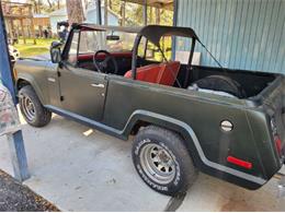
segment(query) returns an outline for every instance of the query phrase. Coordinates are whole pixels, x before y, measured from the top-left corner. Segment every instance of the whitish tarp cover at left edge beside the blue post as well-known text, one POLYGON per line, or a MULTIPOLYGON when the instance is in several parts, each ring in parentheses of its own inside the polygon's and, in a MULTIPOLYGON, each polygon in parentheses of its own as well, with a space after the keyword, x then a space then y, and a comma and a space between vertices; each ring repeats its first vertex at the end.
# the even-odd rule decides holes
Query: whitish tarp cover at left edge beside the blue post
POLYGON ((12 96, 0 83, 0 135, 20 130, 20 120, 12 96))

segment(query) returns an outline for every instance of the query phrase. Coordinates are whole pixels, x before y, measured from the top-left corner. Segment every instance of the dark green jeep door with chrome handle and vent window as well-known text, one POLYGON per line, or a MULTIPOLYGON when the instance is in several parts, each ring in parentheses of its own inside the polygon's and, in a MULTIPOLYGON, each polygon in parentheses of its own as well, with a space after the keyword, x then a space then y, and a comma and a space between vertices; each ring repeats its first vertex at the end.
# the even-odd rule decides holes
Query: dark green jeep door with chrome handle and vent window
POLYGON ((59 68, 60 98, 64 109, 92 120, 101 120, 107 86, 103 73, 78 68, 79 33, 75 32, 67 59, 59 68))

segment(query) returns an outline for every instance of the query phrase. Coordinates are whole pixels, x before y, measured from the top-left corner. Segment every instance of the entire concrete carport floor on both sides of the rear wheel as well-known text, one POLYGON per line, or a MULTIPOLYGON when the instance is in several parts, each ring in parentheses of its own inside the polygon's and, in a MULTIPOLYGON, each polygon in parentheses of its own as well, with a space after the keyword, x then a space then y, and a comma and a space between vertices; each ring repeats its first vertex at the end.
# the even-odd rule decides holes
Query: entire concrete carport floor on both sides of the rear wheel
MULTIPOLYGON (((32 190, 62 211, 163 211, 170 200, 136 174, 130 142, 56 116, 43 129, 24 123, 32 190)), ((12 174, 9 149, 0 138, 0 168, 12 174)), ((281 170, 284 173, 284 168, 281 170)), ((284 211, 277 179, 248 191, 201 174, 179 211, 284 211)))

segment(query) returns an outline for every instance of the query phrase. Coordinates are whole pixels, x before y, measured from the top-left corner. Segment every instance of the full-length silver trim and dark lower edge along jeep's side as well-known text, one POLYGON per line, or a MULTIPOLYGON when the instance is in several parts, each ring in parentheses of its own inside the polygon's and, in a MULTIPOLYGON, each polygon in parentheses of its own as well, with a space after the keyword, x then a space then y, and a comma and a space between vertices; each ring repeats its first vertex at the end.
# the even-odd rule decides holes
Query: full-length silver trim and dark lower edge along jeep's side
POLYGON ((264 185, 267 180, 256 177, 230 167, 227 167, 225 165, 215 163, 209 161, 206 156, 204 151, 202 150, 202 146, 200 144, 200 141, 193 131, 193 129, 185 122, 163 116, 160 114, 147 111, 147 110, 135 110, 132 116, 129 117, 125 128, 123 130, 118 130, 112 127, 109 127, 104 123, 88 119, 86 117, 82 117, 80 115, 73 114, 71 111, 67 111, 65 109, 60 109, 55 106, 46 105, 46 108, 52 110, 53 113, 56 113, 58 115, 68 117, 72 120, 79 121, 83 125, 87 125, 89 127, 95 128, 100 131, 103 131, 107 134, 111 134, 113 137, 119 138, 122 140, 127 140, 128 135, 133 129, 133 127, 138 121, 147 121, 152 125, 158 125, 160 127, 173 130, 178 133, 180 133, 185 139, 185 145, 194 161, 194 164, 200 170, 209 174, 212 176, 219 177, 221 179, 225 179, 227 181, 247 187, 249 189, 258 189, 262 185, 264 185))

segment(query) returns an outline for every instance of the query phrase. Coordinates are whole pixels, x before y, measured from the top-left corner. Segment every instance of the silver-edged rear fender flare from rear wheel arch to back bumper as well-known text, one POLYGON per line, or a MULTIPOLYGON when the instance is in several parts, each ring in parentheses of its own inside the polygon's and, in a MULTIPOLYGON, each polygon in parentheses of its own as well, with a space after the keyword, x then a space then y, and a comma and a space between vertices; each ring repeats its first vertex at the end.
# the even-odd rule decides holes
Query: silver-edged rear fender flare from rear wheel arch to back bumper
MULTIPOLYGON (((212 174, 215 173, 215 176, 219 176, 219 174, 225 173, 231 176, 232 180, 236 181, 236 178, 242 178, 249 182, 254 182, 256 186, 252 187, 253 189, 264 185, 266 182, 265 179, 261 177, 256 177, 230 167, 227 167, 225 165, 215 163, 209 161, 206 156, 205 153, 201 146, 201 143, 193 131, 193 129, 185 122, 159 115, 156 113, 151 111, 146 111, 146 110, 136 110, 130 116, 126 127, 123 130, 123 134, 128 135, 130 133, 132 128, 136 125, 138 121, 147 121, 153 125, 158 125, 160 127, 164 127, 167 129, 173 130, 178 133, 180 133, 184 139, 185 139, 185 145, 193 157, 194 164, 203 171, 212 174)), ((230 178, 230 177, 220 177, 220 178, 230 178)))

